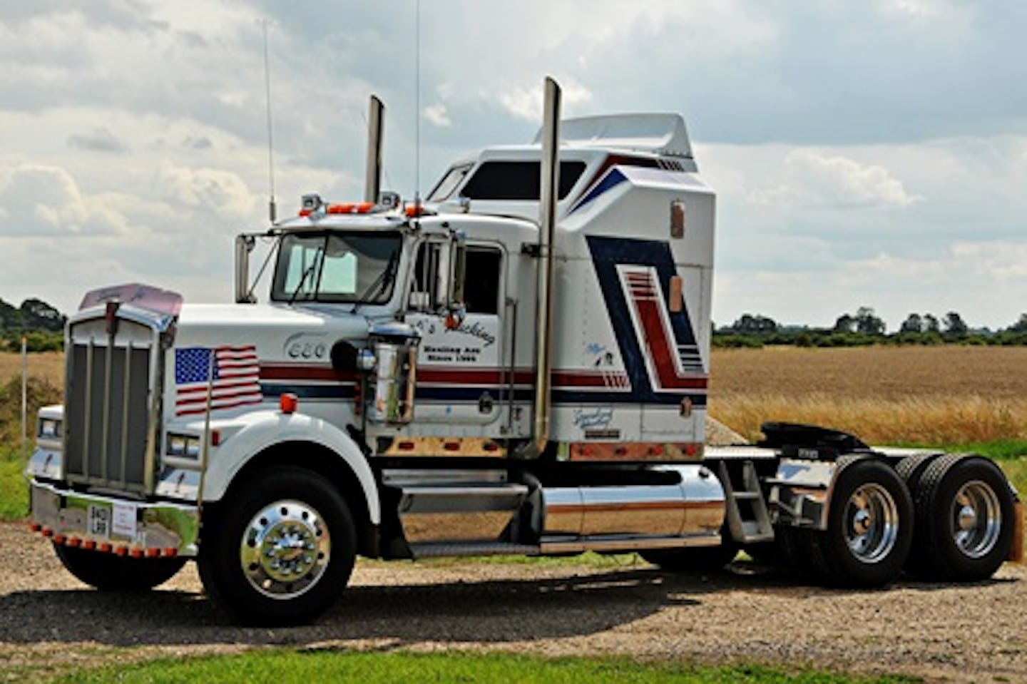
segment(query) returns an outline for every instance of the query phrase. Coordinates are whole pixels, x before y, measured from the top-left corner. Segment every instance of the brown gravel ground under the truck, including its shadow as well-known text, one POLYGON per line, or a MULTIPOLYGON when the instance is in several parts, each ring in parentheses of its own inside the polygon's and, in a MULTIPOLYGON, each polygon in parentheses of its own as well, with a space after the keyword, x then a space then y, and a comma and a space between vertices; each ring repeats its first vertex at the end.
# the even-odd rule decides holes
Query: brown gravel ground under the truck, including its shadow
POLYGON ((188 565, 157 591, 104 595, 24 524, 0 524, 0 681, 154 656, 301 648, 486 649, 545 655, 762 661, 1027 682, 1027 569, 971 585, 810 587, 768 568, 664 574, 624 565, 358 564, 316 624, 240 628, 188 565))

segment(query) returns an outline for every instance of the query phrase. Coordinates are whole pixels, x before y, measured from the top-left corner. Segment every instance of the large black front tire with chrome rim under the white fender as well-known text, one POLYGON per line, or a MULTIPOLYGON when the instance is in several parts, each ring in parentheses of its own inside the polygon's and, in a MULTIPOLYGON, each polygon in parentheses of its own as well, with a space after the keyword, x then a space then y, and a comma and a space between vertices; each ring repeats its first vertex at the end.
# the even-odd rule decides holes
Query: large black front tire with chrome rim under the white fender
POLYGON ((206 523, 197 558, 207 594, 250 624, 310 622, 349 581, 355 531, 339 492, 302 468, 250 480, 206 523))

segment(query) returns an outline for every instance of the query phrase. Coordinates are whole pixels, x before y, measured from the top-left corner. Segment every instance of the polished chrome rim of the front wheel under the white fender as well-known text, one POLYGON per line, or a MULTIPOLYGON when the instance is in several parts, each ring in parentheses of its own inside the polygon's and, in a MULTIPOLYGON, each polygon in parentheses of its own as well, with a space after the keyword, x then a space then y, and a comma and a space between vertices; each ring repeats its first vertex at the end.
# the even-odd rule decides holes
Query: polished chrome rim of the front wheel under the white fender
POLYGON ((293 599, 317 583, 331 558, 332 540, 317 510, 281 500, 250 520, 239 546, 242 574, 272 599, 293 599))

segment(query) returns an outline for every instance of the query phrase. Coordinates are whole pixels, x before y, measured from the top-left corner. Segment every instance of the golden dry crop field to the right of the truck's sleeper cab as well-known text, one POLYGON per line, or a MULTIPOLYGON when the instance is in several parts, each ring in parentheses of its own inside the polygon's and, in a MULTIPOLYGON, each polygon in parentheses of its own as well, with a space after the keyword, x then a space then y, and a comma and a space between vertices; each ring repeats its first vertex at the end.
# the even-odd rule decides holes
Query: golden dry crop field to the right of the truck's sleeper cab
POLYGON ((711 414, 749 438, 765 420, 882 444, 1027 440, 1027 347, 716 349, 711 414))

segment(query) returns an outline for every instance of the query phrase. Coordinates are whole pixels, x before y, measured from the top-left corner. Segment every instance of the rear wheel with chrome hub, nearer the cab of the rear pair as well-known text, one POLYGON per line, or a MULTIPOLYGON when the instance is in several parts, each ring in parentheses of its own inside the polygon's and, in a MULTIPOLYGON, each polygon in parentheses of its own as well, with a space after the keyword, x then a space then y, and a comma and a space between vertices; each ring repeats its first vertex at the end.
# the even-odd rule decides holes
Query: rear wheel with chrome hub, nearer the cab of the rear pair
POLYGON ((913 542, 913 502, 887 463, 843 463, 825 531, 805 536, 819 578, 836 586, 883 586, 899 576, 913 542))

